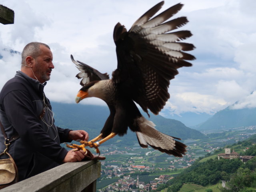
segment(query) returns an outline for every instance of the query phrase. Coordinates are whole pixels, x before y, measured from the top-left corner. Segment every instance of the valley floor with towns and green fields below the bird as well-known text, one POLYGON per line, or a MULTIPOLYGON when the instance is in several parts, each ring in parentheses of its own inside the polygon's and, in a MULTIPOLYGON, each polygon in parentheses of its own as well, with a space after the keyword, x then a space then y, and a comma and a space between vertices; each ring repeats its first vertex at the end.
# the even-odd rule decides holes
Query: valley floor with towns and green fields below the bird
MULTIPOLYGON (((136 182, 138 176, 140 182, 154 189, 154 184, 159 184, 157 180, 159 176, 166 175, 170 180, 192 166, 198 158, 200 162, 216 158, 218 153, 224 152, 225 146, 230 145, 232 148, 232 144, 242 142, 252 134, 256 134, 256 126, 209 132, 205 133, 208 139, 184 140, 188 147, 183 158, 175 158, 152 148, 141 148, 137 143, 132 147, 126 147, 122 145, 122 138, 119 144, 101 146, 101 154, 106 156, 106 160, 101 161, 102 175, 98 179, 97 189, 104 191, 104 188, 112 186, 113 182, 123 182, 124 176, 130 176, 134 179, 133 182, 136 182)), ((238 153, 244 152, 246 146, 235 150, 238 153)))

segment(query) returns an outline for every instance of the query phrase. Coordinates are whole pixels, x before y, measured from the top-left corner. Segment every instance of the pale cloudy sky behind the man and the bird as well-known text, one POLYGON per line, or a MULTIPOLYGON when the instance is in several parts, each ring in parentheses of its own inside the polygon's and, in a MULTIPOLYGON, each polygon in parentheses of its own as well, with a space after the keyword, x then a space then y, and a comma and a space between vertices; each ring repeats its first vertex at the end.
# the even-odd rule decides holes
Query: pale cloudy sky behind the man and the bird
MULTIPOLYGON (((81 88, 77 68, 80 60, 102 73, 116 69, 113 29, 120 22, 127 29, 160 1, 156 0, 1 0, 14 10, 14 24, 0 24, 0 89, 20 70, 19 54, 29 42, 43 42, 53 52, 54 70, 45 87, 54 102, 75 103, 81 88)), ((190 30, 184 40, 194 44, 192 67, 180 68, 171 80, 165 113, 214 114, 256 107, 256 1, 255 0, 167 0, 163 11, 181 2, 184 7, 172 18, 186 16, 190 30), (253 94, 251 94, 253 92, 253 94)), ((106 105, 98 98, 80 104, 106 105)))

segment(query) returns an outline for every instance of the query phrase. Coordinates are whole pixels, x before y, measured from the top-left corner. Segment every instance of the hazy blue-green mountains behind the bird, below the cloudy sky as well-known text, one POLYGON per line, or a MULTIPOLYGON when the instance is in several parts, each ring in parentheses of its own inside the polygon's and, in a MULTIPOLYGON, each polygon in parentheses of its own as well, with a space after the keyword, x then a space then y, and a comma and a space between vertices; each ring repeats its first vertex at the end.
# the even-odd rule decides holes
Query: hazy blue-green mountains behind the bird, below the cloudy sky
MULTIPOLYGON (((236 102, 235 104, 237 104, 236 102)), ((218 130, 237 128, 241 126, 255 126, 256 125, 256 108, 242 108, 234 109, 234 105, 228 106, 224 110, 220 110, 205 122, 197 126, 187 127, 178 120, 164 118, 161 115, 154 115, 150 113, 150 118, 147 114, 142 112, 145 118, 148 118, 154 124, 156 129, 177 137, 188 139, 198 139, 205 137, 200 131, 203 130, 218 130)), ((52 102, 55 113, 56 125, 62 128, 70 128, 73 130, 84 129, 90 134, 90 138, 94 138, 100 134, 104 123, 109 115, 107 106, 83 105, 83 104, 64 104, 52 102)), ((113 138, 113 143, 125 141, 136 142, 136 134, 128 130, 124 137, 116 136, 113 138)))

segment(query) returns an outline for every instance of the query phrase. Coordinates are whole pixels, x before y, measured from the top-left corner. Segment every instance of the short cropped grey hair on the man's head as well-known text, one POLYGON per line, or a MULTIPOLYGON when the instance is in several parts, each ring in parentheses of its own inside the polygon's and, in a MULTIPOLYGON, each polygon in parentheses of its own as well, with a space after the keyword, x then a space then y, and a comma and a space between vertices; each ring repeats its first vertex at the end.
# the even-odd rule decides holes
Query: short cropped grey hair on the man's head
POLYGON ((40 55, 40 45, 46 46, 50 49, 50 47, 47 44, 40 43, 40 42, 31 42, 27 44, 21 54, 21 64, 26 64, 26 57, 32 56, 33 58, 36 58, 40 55))

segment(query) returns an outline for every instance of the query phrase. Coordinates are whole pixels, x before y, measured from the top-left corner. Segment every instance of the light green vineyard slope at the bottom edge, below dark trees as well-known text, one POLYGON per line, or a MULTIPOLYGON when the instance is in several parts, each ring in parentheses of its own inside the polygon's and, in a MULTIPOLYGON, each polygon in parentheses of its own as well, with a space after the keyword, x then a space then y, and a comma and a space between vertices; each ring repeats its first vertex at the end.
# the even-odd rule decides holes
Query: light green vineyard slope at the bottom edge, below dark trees
POLYGON ((221 183, 207 187, 196 184, 184 184, 182 188, 180 188, 179 192, 206 192, 207 189, 212 189, 212 192, 221 192, 220 188, 222 188, 221 183))

